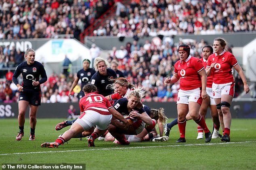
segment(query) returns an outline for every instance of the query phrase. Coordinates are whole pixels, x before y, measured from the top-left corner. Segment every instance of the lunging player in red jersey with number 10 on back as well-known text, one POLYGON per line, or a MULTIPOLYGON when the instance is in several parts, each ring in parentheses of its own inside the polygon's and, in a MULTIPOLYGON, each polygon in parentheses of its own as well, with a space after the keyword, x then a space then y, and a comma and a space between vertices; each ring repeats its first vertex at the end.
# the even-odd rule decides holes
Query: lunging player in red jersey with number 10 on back
POLYGON ((94 139, 105 133, 111 120, 115 126, 120 129, 128 128, 128 121, 115 111, 104 96, 97 94, 97 87, 93 84, 87 84, 83 87, 85 96, 80 100, 79 106, 83 114, 71 125, 68 131, 65 131, 55 142, 44 142, 41 147, 58 147, 72 137, 86 131, 96 125, 94 132, 88 138, 88 146, 94 146, 94 139), (112 115, 122 121, 124 124, 112 119, 112 115))

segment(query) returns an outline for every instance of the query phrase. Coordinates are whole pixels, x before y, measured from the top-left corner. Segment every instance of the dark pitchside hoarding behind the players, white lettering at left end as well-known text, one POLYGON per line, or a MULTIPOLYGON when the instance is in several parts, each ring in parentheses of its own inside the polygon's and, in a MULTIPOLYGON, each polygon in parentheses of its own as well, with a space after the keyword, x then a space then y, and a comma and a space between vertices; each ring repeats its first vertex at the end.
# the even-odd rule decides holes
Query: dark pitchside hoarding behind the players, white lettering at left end
MULTIPOLYGON (((38 118, 64 118, 68 117, 67 110, 70 105, 73 105, 77 111, 80 112, 78 103, 42 103, 38 107, 38 118)), ((164 108, 164 113, 168 118, 177 117, 176 102, 145 102, 147 106, 152 109, 164 108)), ((232 118, 256 118, 256 102, 255 101, 239 101, 232 102, 231 105, 232 118)), ((210 118, 210 109, 206 115, 210 118)), ((28 118, 29 109, 27 109, 26 117, 28 118)), ((0 103, 0 119, 17 118, 18 117, 18 103, 0 103)))

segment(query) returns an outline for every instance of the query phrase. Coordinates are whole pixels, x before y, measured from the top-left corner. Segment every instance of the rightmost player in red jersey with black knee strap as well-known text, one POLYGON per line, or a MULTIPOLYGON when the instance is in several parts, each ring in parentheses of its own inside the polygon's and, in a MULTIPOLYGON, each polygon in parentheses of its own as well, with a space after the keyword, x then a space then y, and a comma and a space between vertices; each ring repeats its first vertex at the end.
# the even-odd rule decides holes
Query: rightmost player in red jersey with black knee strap
POLYGON ((224 122, 224 134, 221 141, 230 141, 231 113, 230 106, 235 93, 235 83, 232 74, 232 68, 237 70, 243 81, 243 90, 248 93, 250 88, 246 81, 246 76, 239 66, 235 56, 226 51, 227 42, 225 39, 216 38, 213 42, 214 54, 207 60, 207 74, 212 74, 213 84, 212 93, 218 109, 219 119, 224 122))

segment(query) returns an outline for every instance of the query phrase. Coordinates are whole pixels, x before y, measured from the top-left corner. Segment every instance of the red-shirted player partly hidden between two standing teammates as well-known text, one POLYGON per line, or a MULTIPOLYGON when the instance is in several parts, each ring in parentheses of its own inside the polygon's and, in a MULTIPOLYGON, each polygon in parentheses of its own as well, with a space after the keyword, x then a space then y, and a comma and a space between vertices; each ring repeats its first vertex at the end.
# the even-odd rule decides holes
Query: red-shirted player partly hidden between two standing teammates
MULTIPOLYGON (((206 68, 207 59, 212 53, 213 53, 212 46, 206 45, 202 48, 202 58, 200 60, 202 61, 204 68, 206 68)), ((220 121, 218 117, 216 104, 212 95, 212 75, 207 77, 206 92, 209 97, 203 100, 199 110, 199 114, 202 115, 205 119, 207 109, 208 107, 210 107, 212 121, 214 123, 214 131, 212 133, 212 139, 216 139, 217 137, 219 137, 220 121)), ((222 128, 224 129, 223 122, 222 122, 222 128)), ((197 131, 198 131, 197 139, 204 139, 203 128, 201 126, 197 126, 197 131)))

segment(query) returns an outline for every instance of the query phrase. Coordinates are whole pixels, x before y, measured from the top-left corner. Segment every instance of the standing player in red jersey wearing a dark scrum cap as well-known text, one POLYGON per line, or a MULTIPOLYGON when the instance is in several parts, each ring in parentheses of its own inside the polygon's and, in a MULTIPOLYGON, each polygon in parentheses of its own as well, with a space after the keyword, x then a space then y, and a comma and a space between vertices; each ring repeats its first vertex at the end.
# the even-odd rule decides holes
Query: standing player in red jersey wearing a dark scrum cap
POLYGON ((206 93, 206 70, 202 61, 190 55, 190 47, 186 44, 178 48, 180 60, 174 65, 174 75, 172 78, 166 78, 165 83, 175 83, 180 79, 180 90, 177 98, 178 127, 180 138, 176 142, 186 142, 186 115, 200 125, 205 132, 205 141, 211 141, 211 132, 209 131, 204 118, 199 115, 202 99, 207 98, 206 93))

